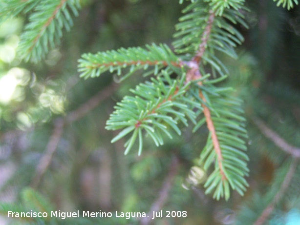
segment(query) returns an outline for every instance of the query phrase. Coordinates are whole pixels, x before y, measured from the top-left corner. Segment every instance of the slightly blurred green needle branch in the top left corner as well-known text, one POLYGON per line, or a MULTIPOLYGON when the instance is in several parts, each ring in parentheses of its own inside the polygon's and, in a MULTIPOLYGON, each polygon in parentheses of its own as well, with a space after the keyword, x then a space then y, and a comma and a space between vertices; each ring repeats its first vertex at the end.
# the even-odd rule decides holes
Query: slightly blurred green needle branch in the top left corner
POLYGON ((21 35, 19 54, 35 62, 60 43, 63 29, 69 31, 73 26, 71 14, 78 16, 80 8, 79 0, 4 0, 1 4, 1 20, 33 10, 21 35))

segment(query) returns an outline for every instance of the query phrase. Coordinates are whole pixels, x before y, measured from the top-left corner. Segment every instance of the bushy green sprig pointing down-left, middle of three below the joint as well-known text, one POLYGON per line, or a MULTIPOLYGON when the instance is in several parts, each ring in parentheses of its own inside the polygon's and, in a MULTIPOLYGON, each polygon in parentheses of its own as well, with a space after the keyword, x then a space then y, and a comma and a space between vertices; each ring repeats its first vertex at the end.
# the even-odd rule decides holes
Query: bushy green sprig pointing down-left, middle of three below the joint
POLYGON ((136 96, 125 96, 115 106, 116 110, 107 121, 106 129, 123 129, 112 139, 112 143, 133 132, 125 144, 127 147, 125 154, 128 154, 137 137, 139 138, 138 154, 141 154, 143 147, 142 130, 149 134, 156 146, 159 146, 164 143, 161 132, 172 138, 165 124, 170 125, 180 135, 181 131, 177 126, 177 121, 187 126, 188 123, 185 118, 187 116, 195 122, 195 113, 187 104, 192 104, 193 108, 201 108, 201 106, 196 102, 182 98, 189 86, 189 84, 184 85, 185 76, 182 76, 181 81, 177 82, 170 79, 170 73, 171 71, 168 72, 167 68, 157 79, 151 78, 152 82, 146 82, 136 86, 135 89, 130 89, 136 96))

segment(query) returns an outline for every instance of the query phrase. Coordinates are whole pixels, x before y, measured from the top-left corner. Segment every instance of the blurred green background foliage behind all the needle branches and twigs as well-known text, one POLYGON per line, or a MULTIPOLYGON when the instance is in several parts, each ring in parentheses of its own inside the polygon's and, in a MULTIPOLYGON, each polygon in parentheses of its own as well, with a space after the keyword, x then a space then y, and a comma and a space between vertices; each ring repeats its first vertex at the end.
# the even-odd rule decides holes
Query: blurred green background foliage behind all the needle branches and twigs
MULTIPOLYGON (((243 221, 245 215, 251 215, 253 205, 264 201, 253 196, 264 196, 272 185, 274 193, 279 191, 280 182, 276 182, 286 173, 280 175, 278 169, 289 168, 284 166, 292 157, 265 137, 254 118, 260 118, 290 145, 300 146, 300 7, 287 11, 271 0, 246 1, 251 9, 244 12, 250 29, 237 27, 246 41, 238 49, 237 61, 223 56, 223 62, 230 71, 227 82, 244 100, 250 187, 244 197, 234 193, 228 202, 216 202, 204 194, 201 184, 187 182, 193 159, 206 142, 205 128, 194 134, 185 128, 181 137, 159 148, 151 141, 145 143, 141 157, 134 151, 124 156, 124 143, 110 143, 116 133, 105 130, 105 123, 114 104, 145 78, 136 74, 118 83, 115 76, 103 74, 83 80, 77 72, 77 60, 86 52, 152 42, 171 46, 184 4, 173 0, 81 3, 80 15, 71 31, 64 33, 62 45, 38 64, 23 62, 16 53, 28 18, 0 25, 1 202, 21 201, 19 193, 31 186, 62 211, 148 212, 175 171, 163 210, 186 210, 188 217, 161 218, 155 224, 228 225, 243 221), (54 141, 57 147, 51 152, 54 141), (43 167, 43 162, 41 173, 38 165, 43 167), (239 215, 244 216, 239 220, 239 215)), ((298 179, 295 175, 289 185, 291 196, 270 217, 272 225, 300 220, 299 165, 295 174, 298 179)), ((0 223, 6 222, 4 215, 0 223)))

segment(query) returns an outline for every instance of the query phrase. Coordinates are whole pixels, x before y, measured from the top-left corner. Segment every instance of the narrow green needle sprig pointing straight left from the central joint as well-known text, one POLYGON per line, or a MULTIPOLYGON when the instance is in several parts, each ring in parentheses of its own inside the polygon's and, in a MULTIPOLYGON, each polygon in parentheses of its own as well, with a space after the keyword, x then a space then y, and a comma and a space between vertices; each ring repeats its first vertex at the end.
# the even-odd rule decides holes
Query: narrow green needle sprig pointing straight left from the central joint
POLYGON ((120 48, 117 51, 98 52, 97 54, 83 54, 79 60, 78 71, 81 77, 99 77, 109 70, 110 73, 117 71, 121 75, 121 70, 130 67, 129 73, 123 77, 127 78, 136 70, 147 69, 155 66, 154 74, 158 73, 158 66, 181 67, 182 63, 173 54, 166 44, 157 46, 156 44, 146 45, 146 49, 141 47, 120 48))

